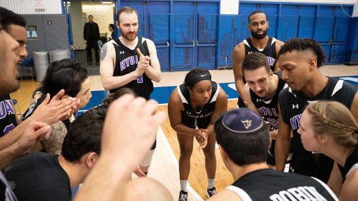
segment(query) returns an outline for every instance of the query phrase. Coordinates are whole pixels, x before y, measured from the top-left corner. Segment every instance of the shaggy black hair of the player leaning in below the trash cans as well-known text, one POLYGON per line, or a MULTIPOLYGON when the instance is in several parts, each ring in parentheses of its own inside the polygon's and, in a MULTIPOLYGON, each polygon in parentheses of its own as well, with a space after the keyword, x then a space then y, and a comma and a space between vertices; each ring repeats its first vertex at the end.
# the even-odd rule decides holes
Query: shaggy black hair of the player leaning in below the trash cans
POLYGON ((65 94, 75 97, 87 78, 86 68, 71 59, 52 62, 43 79, 42 92, 53 97, 63 89, 65 94))

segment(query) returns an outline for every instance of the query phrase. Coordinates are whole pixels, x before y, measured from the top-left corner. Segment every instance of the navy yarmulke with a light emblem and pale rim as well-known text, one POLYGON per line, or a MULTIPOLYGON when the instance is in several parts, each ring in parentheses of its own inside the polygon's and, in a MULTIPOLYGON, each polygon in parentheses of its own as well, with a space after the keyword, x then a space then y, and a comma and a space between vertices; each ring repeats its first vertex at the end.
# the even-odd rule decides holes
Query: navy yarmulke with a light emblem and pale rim
POLYGON ((222 118, 223 126, 233 133, 252 133, 261 129, 261 116, 247 108, 232 109, 222 118))

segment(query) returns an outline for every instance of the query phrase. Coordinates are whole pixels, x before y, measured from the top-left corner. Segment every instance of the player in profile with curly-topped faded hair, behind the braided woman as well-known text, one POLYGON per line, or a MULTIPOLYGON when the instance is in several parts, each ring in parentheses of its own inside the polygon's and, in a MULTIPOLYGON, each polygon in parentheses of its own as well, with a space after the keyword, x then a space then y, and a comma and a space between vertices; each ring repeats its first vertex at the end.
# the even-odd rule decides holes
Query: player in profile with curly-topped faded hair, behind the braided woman
POLYGON ((327 182, 333 160, 303 148, 297 133, 300 118, 308 104, 318 100, 336 100, 348 107, 358 120, 357 88, 346 81, 322 75, 318 68, 323 66, 325 56, 315 40, 292 39, 282 46, 278 55, 282 79, 289 88, 282 90, 278 97, 281 116, 275 144, 276 170, 284 170, 291 148, 291 172, 315 176, 327 182), (294 134, 292 139, 291 131, 294 134))

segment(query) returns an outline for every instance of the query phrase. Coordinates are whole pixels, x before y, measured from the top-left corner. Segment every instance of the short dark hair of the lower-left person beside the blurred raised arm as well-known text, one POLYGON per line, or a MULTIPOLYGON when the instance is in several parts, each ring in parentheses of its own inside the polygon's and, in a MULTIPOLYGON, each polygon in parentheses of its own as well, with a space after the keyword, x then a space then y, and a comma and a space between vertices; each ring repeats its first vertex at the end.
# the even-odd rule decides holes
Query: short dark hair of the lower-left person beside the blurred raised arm
POLYGON ((101 152, 101 136, 106 107, 95 107, 77 117, 62 144, 62 157, 76 163, 88 152, 101 152))

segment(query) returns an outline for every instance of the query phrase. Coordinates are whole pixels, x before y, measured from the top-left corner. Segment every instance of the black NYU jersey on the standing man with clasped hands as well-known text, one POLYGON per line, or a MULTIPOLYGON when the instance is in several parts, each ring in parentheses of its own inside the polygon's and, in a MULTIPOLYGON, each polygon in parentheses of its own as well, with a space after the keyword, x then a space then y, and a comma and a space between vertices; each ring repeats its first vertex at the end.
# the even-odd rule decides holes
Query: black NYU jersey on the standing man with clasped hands
MULTIPOLYGON (((129 49, 127 46, 123 45, 119 38, 111 40, 113 46, 115 47, 116 53, 116 64, 115 71, 113 76, 123 76, 127 75, 130 72, 136 70, 136 65, 139 63, 139 55, 136 53, 136 49, 139 48, 141 53, 145 56, 149 56, 149 49, 147 46, 147 41, 144 41, 142 44, 142 38, 138 38, 138 43, 134 50, 129 49)), ((121 86, 120 88, 131 88, 136 92, 137 96, 141 96, 145 99, 150 99, 150 94, 153 92, 153 83, 152 80, 143 73, 143 75, 137 77, 130 83, 121 86)), ((110 90, 110 93, 116 92, 120 88, 110 90)))

